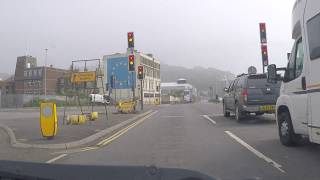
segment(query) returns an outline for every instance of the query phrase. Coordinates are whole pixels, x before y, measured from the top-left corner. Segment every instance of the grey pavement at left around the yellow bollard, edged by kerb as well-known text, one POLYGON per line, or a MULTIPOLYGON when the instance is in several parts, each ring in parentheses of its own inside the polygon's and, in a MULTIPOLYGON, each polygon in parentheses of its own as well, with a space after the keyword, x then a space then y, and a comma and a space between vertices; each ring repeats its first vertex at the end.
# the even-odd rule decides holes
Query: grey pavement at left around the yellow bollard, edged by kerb
MULTIPOLYGON (((15 135, 16 141, 23 144, 63 144, 79 141, 93 134, 101 132, 104 129, 115 126, 119 123, 132 119, 140 114, 150 110, 147 106, 144 110, 137 111, 135 114, 116 113, 114 107, 108 107, 108 120, 106 120, 104 107, 95 107, 99 112, 99 119, 96 121, 87 121, 83 125, 63 125, 63 109, 58 111, 58 132, 53 139, 43 138, 39 123, 39 110, 28 109, 28 111, 5 111, 0 112, 0 124, 7 126, 15 135)), ((90 112, 91 108, 84 108, 84 112, 90 112)), ((66 114, 80 114, 80 110, 69 108, 66 114)))

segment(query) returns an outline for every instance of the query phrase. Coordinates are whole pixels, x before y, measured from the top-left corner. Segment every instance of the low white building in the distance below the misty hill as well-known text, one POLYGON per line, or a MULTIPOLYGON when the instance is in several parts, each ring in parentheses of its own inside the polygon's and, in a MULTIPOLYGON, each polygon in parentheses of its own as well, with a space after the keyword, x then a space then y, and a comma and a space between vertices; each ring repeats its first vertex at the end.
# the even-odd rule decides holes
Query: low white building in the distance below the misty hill
POLYGON ((178 79, 177 82, 161 83, 161 99, 163 104, 175 102, 190 103, 195 101, 197 89, 187 83, 186 79, 178 79))

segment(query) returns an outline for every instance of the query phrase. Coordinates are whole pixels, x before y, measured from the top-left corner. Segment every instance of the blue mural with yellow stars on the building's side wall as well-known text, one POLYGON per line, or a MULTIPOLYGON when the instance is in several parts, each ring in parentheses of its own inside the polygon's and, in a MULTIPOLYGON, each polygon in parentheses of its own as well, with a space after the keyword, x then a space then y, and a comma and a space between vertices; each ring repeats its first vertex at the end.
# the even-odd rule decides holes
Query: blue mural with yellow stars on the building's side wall
POLYGON ((131 89, 133 83, 136 83, 136 72, 128 71, 128 57, 109 57, 105 61, 107 75, 105 77, 106 82, 111 87, 111 76, 114 77, 114 89, 131 89))

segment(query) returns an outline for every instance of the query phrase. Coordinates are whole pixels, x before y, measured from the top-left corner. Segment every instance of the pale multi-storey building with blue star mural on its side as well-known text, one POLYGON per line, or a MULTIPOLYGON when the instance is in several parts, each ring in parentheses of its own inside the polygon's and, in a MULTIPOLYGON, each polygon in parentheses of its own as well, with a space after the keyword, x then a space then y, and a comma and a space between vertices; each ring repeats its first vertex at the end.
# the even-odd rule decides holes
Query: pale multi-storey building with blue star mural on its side
POLYGON ((133 94, 140 99, 140 88, 142 87, 144 104, 160 103, 160 61, 151 54, 134 52, 134 55, 136 71, 139 65, 144 67, 145 78, 142 85, 137 79, 136 71, 128 71, 128 53, 117 53, 103 57, 107 93, 116 102, 132 99, 133 94))

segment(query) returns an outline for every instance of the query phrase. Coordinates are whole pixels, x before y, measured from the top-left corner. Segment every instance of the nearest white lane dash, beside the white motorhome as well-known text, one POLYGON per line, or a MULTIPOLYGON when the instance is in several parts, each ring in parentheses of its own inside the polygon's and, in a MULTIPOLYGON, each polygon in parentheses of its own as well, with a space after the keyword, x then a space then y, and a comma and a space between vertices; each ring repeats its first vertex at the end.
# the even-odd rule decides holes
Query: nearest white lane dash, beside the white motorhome
POLYGON ((236 140, 239 144, 241 144, 242 146, 244 146, 245 148, 247 148, 249 151, 251 151, 253 154, 255 154, 256 156, 258 156, 259 158, 265 160, 267 163, 271 164, 273 167, 275 167, 276 169, 278 169, 280 172, 282 173, 286 173, 286 171, 284 171, 283 169, 281 169, 282 165, 278 164, 277 162, 275 162, 274 160, 272 160, 271 158, 265 156, 264 154, 262 154, 261 152, 259 152, 258 150, 254 149, 252 146, 250 146, 249 144, 247 144, 246 142, 244 142, 242 139, 240 139, 238 136, 234 135, 232 132, 230 131, 225 131, 225 133, 227 133, 231 138, 233 138, 234 140, 236 140))

